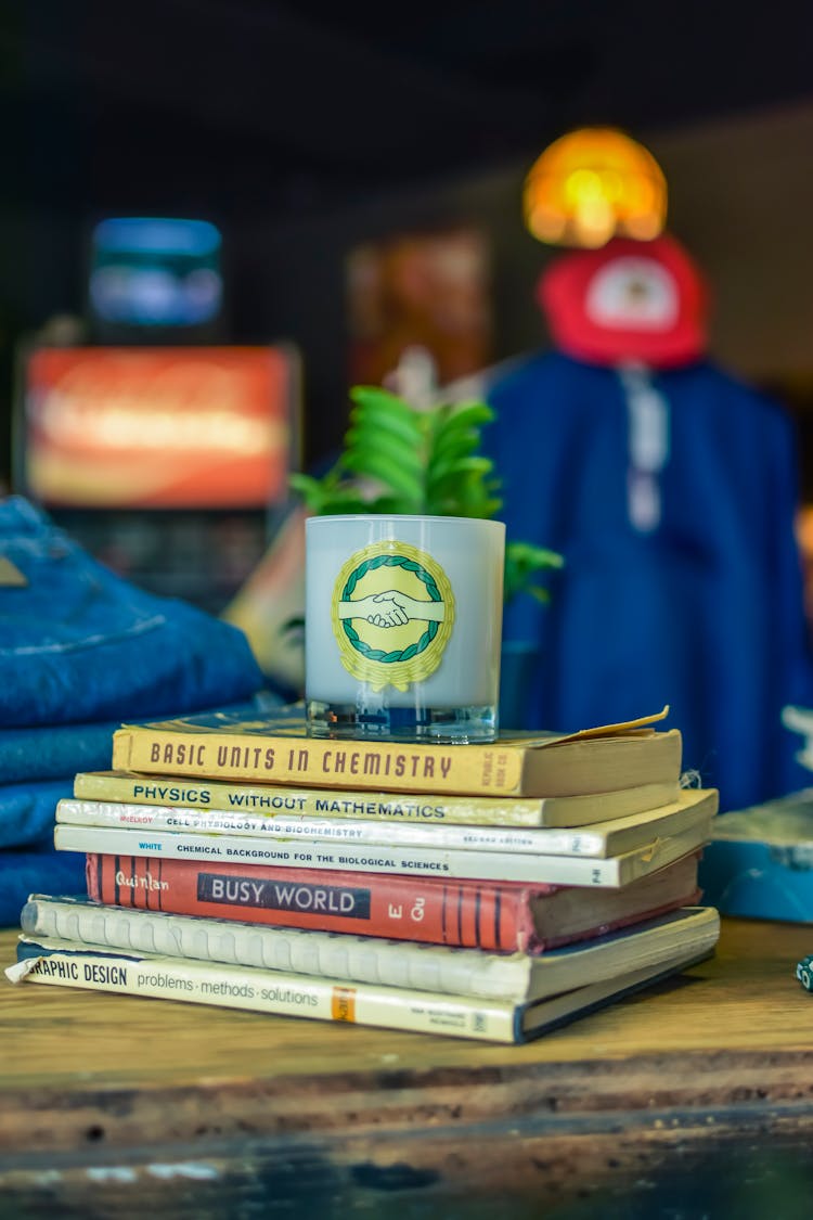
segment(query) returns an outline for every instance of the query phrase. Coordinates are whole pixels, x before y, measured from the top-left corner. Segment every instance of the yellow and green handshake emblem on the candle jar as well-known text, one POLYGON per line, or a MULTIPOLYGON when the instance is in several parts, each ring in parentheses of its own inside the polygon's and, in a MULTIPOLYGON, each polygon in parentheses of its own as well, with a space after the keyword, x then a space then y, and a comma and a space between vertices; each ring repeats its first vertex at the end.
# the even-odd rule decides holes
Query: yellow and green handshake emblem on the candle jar
POLYGON ((449 577, 405 542, 357 550, 333 587, 333 633, 341 664, 374 691, 406 691, 440 665, 455 623, 449 577))

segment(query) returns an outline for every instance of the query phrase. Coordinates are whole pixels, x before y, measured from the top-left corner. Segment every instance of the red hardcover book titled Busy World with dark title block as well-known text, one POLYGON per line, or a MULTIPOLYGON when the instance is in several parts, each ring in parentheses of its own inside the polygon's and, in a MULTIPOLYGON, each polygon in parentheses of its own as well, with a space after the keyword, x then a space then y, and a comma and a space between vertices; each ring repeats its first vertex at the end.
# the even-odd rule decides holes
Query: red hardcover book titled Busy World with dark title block
POLYGON ((698 900, 697 854, 623 889, 313 872, 160 856, 88 854, 87 889, 106 905, 252 924, 362 932, 501 953, 538 953, 698 900))

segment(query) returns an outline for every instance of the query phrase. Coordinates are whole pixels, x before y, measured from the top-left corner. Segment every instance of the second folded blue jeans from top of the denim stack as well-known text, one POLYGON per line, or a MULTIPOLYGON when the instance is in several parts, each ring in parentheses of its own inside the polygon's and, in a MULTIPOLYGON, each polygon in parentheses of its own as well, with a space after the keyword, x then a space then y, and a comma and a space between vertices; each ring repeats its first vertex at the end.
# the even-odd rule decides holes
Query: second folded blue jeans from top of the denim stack
MULTIPOLYGON (((282 699, 269 691, 258 691, 251 699, 212 708, 212 711, 236 711, 246 716, 271 711, 282 699)), ((206 710, 206 709, 200 709, 206 710)), ((183 715, 172 705, 160 712, 161 720, 174 720, 183 715)), ((110 767, 113 733, 122 721, 138 723, 152 716, 122 714, 116 720, 102 720, 88 725, 43 725, 33 728, 0 730, 0 794, 2 784, 23 780, 60 780, 77 771, 106 771, 110 767)))

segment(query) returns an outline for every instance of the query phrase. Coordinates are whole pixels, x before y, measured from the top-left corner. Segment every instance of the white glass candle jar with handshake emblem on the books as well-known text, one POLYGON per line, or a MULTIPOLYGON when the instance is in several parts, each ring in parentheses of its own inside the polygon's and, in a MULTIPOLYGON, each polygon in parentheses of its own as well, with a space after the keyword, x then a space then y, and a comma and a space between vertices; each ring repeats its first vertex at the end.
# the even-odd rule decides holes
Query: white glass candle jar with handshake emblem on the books
POLYGON ((306 531, 311 733, 494 738, 505 525, 353 515, 306 531))

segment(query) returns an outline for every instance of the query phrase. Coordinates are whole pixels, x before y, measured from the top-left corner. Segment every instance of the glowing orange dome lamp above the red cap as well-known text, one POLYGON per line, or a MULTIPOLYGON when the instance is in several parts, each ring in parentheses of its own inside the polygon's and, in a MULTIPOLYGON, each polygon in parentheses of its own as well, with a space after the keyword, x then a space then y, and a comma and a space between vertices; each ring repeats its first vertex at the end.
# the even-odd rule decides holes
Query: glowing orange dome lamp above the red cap
POLYGON ((551 245, 596 249, 611 237, 651 242, 667 182, 651 152, 612 127, 581 127, 545 149, 525 178, 525 224, 551 245))

